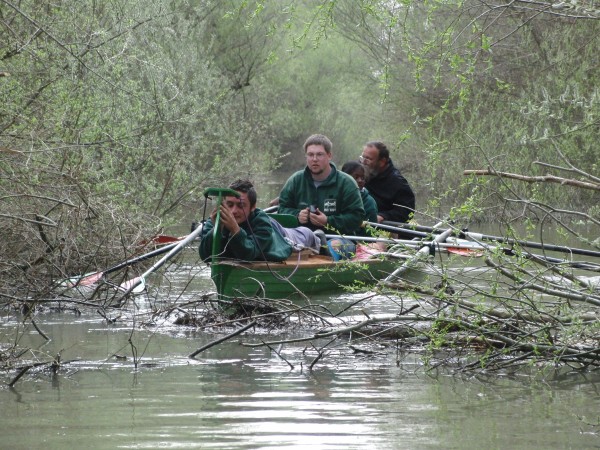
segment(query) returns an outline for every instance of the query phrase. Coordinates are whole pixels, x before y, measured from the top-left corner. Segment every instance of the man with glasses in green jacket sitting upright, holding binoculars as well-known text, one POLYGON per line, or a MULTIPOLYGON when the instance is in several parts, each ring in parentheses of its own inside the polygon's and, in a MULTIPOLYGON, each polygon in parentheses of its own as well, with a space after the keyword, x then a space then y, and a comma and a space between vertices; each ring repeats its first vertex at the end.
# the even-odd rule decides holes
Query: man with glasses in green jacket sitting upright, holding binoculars
MULTIPOLYGON (((322 134, 306 140, 306 168, 286 181, 279 194, 279 212, 296 216, 300 225, 311 230, 351 235, 360 228, 365 210, 354 179, 331 161, 332 147, 322 134)), ((352 241, 342 237, 332 239, 328 246, 336 260, 355 251, 352 241)))

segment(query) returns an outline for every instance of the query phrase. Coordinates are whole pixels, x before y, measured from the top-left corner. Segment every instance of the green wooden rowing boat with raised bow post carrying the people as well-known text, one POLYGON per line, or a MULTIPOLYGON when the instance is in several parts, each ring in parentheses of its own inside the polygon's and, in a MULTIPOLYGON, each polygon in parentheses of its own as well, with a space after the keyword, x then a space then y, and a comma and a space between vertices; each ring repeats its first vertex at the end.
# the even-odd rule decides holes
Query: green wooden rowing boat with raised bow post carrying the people
MULTIPOLYGON (((236 193, 230 189, 209 188, 204 195, 218 197, 219 204, 224 196, 236 193)), ((273 217, 286 227, 298 225, 293 216, 273 214, 273 217)), ((218 222, 218 215, 216 220, 218 222)), ((220 248, 217 229, 215 226, 210 268, 220 298, 305 299, 348 289, 366 289, 403 262, 402 255, 334 262, 331 257, 316 255, 310 250, 294 252, 283 262, 223 259, 215 256, 220 248)))

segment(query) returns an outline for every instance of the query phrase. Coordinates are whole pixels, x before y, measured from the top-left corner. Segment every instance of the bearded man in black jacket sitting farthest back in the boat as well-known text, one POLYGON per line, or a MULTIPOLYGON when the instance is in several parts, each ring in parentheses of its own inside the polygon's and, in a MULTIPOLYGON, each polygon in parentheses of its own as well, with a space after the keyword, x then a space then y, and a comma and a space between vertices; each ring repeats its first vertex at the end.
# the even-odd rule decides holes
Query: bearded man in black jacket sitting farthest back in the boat
POLYGON ((415 194, 394 167, 383 142, 367 142, 359 158, 368 171, 366 188, 377 203, 377 221, 408 222, 415 209, 415 194))

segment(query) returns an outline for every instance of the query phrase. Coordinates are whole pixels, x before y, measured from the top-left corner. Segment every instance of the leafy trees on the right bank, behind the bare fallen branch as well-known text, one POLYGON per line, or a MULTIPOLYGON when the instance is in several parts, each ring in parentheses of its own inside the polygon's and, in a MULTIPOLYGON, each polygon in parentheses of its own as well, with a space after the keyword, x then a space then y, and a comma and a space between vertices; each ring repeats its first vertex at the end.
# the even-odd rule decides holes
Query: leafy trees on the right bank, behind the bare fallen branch
MULTIPOLYGON (((324 47, 339 34, 362 50, 372 70, 357 75, 384 100, 378 128, 388 130, 393 156, 434 205, 468 196, 474 186, 461 183, 462 172, 473 166, 537 173, 536 161, 565 156, 594 167, 600 12, 593 2, 296 1, 287 11, 289 23, 306 24, 289 27, 294 46, 324 47)), ((594 197, 512 188, 563 206, 594 197)), ((478 195, 487 206, 504 197, 496 183, 478 195)))

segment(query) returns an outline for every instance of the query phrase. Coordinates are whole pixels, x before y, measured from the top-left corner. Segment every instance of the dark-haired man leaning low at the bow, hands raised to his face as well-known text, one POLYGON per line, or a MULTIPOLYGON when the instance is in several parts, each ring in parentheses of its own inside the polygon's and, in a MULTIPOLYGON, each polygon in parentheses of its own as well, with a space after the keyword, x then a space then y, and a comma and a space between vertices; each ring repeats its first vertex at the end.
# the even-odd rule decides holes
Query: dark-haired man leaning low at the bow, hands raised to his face
MULTIPOLYGON (((230 189, 239 197, 226 196, 220 208, 221 248, 219 257, 244 261, 284 261, 294 246, 317 251, 320 240, 306 227, 283 228, 256 207, 256 190, 248 180, 238 180, 230 189)), ((200 257, 211 257, 217 210, 206 221, 200 235, 200 257)))

